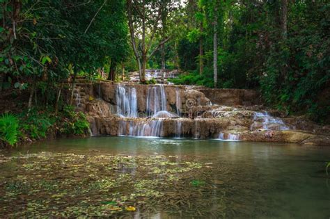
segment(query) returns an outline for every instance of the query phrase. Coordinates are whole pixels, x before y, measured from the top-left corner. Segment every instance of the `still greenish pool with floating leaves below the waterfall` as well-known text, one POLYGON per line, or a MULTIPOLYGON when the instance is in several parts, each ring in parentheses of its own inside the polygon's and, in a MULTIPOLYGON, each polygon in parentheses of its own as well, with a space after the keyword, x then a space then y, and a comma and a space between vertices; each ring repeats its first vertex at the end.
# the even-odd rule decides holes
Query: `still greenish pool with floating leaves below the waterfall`
POLYGON ((0 154, 0 218, 330 217, 327 148, 94 137, 0 154))

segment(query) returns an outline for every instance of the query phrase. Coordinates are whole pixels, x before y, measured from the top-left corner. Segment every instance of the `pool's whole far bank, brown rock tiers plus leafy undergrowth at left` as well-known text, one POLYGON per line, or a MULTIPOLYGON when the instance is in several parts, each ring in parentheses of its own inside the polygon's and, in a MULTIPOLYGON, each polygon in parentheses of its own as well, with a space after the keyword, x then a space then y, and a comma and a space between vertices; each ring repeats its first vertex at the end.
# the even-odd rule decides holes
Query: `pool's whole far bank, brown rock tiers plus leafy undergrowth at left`
MULTIPOLYGON (((70 92, 63 93, 63 102, 68 102, 70 92)), ((79 79, 72 105, 62 106, 58 113, 49 106, 30 113, 13 111, 18 132, 12 145, 90 135, 330 145, 329 126, 267 108, 254 90, 79 79)))

